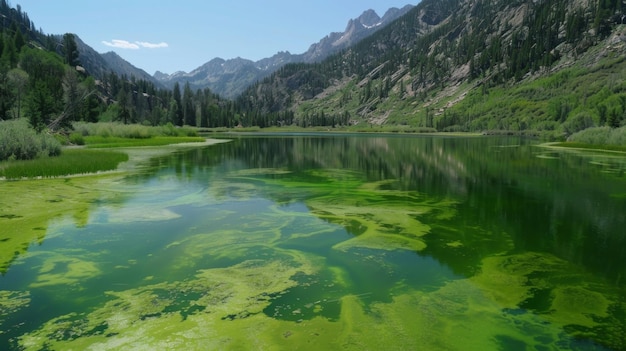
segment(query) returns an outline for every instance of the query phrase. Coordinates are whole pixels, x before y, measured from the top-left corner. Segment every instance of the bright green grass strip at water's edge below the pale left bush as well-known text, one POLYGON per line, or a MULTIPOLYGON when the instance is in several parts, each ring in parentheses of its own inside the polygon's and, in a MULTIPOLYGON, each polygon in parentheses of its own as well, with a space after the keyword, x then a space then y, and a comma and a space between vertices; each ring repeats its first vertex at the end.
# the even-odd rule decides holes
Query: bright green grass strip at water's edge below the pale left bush
POLYGON ((6 179, 49 178, 96 173, 114 170, 125 161, 128 161, 128 155, 122 152, 69 149, 63 150, 57 157, 1 162, 0 177, 6 179))

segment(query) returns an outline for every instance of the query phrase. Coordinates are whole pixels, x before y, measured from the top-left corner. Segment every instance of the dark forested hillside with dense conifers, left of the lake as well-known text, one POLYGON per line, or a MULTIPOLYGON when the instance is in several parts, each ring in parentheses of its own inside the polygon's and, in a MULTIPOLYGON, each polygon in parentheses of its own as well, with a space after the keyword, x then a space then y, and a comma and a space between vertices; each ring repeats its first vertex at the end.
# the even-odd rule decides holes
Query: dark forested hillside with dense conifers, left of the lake
POLYGON ((131 76, 86 71, 74 34, 46 35, 18 5, 0 0, 0 121, 27 118, 37 130, 74 121, 228 126, 232 103, 210 90, 158 89, 131 76))

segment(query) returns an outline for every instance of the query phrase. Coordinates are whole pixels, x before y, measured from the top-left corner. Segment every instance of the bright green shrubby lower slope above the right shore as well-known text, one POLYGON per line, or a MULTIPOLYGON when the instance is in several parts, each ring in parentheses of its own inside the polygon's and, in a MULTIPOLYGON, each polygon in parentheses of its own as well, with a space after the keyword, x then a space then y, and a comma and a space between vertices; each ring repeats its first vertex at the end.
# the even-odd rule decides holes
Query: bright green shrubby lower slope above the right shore
MULTIPOLYGON (((590 127, 613 134, 607 143, 620 145, 618 127, 626 111, 626 61, 601 60, 597 65, 567 68, 514 88, 477 89, 438 120, 462 130, 534 130, 549 139, 564 139, 590 127), (610 68, 601 69, 607 65, 610 68)), ((595 132, 594 132, 595 133, 595 132)))

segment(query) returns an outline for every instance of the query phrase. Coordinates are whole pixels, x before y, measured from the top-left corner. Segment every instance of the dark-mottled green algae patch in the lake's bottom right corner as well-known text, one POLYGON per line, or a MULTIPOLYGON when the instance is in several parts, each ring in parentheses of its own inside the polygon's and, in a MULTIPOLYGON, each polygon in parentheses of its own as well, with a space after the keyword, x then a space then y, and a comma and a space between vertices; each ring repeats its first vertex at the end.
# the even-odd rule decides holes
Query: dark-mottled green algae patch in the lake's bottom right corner
POLYGON ((493 256, 470 280, 503 309, 533 312, 573 337, 603 340, 616 349, 626 346, 619 331, 626 322, 616 317, 620 313, 609 313, 626 312, 619 289, 567 261, 533 252, 493 256), (615 330, 608 332, 606 325, 615 330))

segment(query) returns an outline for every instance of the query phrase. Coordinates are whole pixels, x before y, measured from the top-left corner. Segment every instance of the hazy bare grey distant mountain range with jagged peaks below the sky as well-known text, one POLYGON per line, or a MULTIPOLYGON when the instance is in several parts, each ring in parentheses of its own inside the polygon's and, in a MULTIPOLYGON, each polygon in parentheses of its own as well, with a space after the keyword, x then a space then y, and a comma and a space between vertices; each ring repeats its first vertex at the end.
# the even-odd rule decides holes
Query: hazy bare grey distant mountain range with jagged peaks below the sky
POLYGON ((350 20, 345 31, 329 34, 302 54, 279 52, 256 62, 239 57, 229 60, 215 58, 189 73, 176 72, 168 75, 156 72, 154 78, 170 88, 176 83, 182 86, 189 82, 194 89, 210 88, 224 97, 234 98, 252 83, 286 64, 319 62, 348 48, 384 28, 411 8, 411 5, 401 9, 391 8, 382 18, 375 11, 367 10, 358 18, 350 20))

